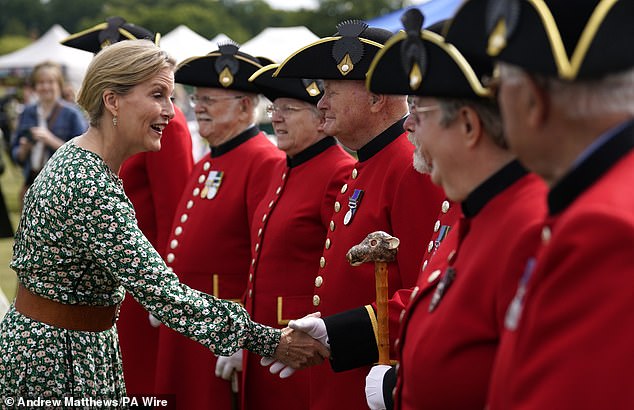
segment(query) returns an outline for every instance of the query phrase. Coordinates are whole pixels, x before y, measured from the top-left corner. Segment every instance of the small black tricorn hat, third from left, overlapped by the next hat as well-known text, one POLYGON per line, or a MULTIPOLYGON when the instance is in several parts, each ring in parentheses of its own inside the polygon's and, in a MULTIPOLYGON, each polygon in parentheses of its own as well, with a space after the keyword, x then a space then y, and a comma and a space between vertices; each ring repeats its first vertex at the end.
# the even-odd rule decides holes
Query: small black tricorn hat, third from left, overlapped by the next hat
POLYGON ((273 77, 278 66, 279 64, 269 64, 260 68, 249 81, 255 84, 260 94, 271 101, 277 98, 294 98, 317 105, 324 93, 323 81, 273 77))

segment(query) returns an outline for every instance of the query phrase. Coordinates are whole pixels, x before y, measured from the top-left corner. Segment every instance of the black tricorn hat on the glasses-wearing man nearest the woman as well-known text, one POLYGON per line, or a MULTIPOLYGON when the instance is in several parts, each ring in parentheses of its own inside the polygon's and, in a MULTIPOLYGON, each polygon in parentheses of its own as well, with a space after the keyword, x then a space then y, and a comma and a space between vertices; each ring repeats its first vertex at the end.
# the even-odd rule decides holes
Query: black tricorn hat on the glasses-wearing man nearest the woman
POLYGON ((224 88, 229 90, 258 93, 249 82, 249 77, 262 68, 260 60, 238 51, 235 43, 218 45, 218 50, 191 57, 176 68, 174 80, 177 83, 195 87, 224 88))

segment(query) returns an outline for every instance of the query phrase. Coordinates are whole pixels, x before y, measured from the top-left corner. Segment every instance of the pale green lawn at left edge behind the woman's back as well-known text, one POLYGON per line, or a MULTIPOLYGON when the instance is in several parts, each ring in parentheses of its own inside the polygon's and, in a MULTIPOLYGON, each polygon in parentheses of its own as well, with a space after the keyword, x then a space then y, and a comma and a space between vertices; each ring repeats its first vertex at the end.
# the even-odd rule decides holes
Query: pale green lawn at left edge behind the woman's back
MULTIPOLYGON (((2 154, 4 155, 4 153, 2 154)), ((0 186, 2 186, 2 194, 9 209, 13 229, 15 229, 18 225, 18 219, 20 218, 18 195, 24 179, 22 178, 22 170, 11 164, 6 156, 4 159, 6 169, 2 176, 0 176, 0 186)), ((13 239, 0 239, 0 288, 9 301, 13 300, 15 296, 17 283, 15 272, 9 268, 12 252, 13 239)))

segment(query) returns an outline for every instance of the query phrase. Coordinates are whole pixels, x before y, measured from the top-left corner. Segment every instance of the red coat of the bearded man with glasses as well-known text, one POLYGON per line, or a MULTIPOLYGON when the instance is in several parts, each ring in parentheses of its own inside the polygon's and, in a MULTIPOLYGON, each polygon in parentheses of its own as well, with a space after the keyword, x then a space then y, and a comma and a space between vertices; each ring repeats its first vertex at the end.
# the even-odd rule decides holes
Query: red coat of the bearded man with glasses
POLYGON ((546 186, 512 162, 461 206, 464 218, 420 275, 404 315, 396 408, 484 408, 506 307, 546 214, 546 186))

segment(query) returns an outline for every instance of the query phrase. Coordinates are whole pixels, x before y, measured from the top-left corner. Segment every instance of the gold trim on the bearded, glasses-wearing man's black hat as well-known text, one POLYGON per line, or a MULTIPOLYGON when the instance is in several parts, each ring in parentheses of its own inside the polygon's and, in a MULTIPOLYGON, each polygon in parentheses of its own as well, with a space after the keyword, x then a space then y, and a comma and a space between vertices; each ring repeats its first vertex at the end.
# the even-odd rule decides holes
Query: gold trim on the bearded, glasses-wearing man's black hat
MULTIPOLYGON (((407 34, 403 30, 399 31, 398 33, 393 35, 385 43, 385 47, 379 50, 377 55, 374 56, 374 60, 372 60, 372 64, 370 65, 370 69, 368 70, 368 75, 365 79, 365 85, 368 89, 370 88, 370 83, 372 82, 372 76, 374 75, 374 70, 376 69, 376 66, 379 64, 380 60, 388 52, 388 50, 390 50, 392 47, 396 46, 397 44, 400 44, 406 38, 407 38, 407 34)), ((469 64, 469 62, 462 55, 460 50, 458 50, 453 44, 447 43, 441 35, 429 30, 421 30, 421 38, 429 43, 432 43, 440 47, 445 53, 447 53, 447 55, 449 55, 449 57, 451 57, 451 59, 460 68, 460 71, 462 71, 462 74, 464 74, 467 82, 471 86, 471 89, 473 90, 473 92, 476 93, 476 95, 480 97, 491 97, 493 95, 489 88, 482 85, 482 82, 478 78, 477 74, 475 73, 475 71, 473 71, 473 67, 471 67, 471 64, 469 64)), ((422 83, 422 79, 423 79, 423 76, 421 75, 421 83, 422 83)), ((411 88, 411 84, 410 84, 410 88, 411 88)), ((412 91, 414 91, 414 89, 412 89, 412 91)))

